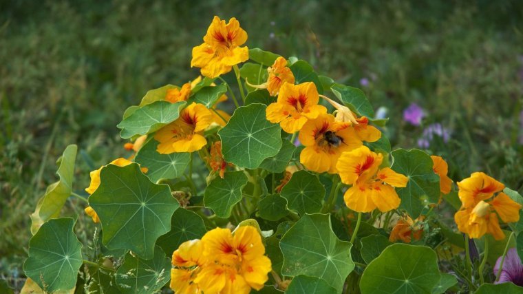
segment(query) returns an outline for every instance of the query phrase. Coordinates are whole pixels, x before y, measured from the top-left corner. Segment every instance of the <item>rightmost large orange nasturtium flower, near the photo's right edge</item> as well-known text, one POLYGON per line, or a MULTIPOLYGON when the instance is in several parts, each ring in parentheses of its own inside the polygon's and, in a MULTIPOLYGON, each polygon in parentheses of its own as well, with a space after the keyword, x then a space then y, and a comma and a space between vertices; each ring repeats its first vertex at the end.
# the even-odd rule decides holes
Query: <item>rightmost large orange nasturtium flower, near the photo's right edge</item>
POLYGON ((520 220, 521 205, 505 193, 504 185, 484 173, 476 172, 458 182, 458 196, 462 206, 454 215, 458 229, 471 238, 481 238, 491 233, 495 240, 502 240, 505 234, 500 228, 498 216, 504 222, 520 220), (494 193, 498 196, 494 196, 494 193))

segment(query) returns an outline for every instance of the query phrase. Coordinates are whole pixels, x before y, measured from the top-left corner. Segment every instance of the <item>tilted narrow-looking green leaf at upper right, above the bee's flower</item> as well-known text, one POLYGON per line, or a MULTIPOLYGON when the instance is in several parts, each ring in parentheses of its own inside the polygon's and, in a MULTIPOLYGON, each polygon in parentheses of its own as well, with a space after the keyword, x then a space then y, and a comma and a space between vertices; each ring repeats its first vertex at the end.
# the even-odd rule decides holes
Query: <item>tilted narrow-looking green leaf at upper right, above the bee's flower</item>
POLYGON ((374 109, 372 109, 372 105, 370 105, 363 91, 341 84, 332 85, 330 90, 332 90, 334 96, 349 107, 350 110, 356 112, 356 114, 367 116, 367 118, 374 118, 374 109))

